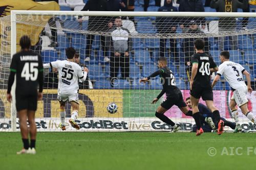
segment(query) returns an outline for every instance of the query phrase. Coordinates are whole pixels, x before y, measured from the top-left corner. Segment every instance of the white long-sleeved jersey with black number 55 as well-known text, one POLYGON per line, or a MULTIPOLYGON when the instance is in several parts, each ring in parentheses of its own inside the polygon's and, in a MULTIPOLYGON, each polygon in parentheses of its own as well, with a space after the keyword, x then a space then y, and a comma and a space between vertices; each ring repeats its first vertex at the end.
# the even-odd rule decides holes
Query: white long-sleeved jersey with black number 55
POLYGON ((44 68, 58 69, 58 94, 72 95, 78 92, 78 80, 85 81, 87 72, 83 72, 82 68, 75 62, 68 60, 57 60, 44 64, 44 68))

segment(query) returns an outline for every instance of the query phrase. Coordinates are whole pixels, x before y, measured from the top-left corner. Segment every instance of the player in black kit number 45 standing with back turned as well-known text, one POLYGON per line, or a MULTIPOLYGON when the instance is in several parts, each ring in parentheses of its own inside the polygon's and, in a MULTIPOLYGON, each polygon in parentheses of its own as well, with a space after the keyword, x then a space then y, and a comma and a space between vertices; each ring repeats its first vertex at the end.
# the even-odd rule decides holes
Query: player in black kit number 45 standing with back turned
POLYGON ((7 100, 12 101, 11 88, 16 75, 16 110, 19 117, 20 133, 24 149, 17 154, 35 154, 36 125, 35 111, 37 100, 42 99, 44 84, 42 60, 39 54, 30 51, 30 38, 23 36, 19 40, 22 50, 12 57, 8 80, 7 100), (37 86, 39 85, 39 91, 37 86), (29 122, 29 129, 27 125, 29 122), (30 133, 30 144, 28 134, 30 133))

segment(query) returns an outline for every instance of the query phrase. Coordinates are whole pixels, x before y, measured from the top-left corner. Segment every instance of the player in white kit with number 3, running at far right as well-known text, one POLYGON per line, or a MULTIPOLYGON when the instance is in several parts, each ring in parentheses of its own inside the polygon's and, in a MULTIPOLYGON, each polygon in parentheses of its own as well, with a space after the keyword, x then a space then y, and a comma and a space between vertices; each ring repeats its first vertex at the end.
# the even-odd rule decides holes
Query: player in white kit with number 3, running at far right
POLYGON ((246 94, 247 92, 252 92, 250 74, 244 69, 242 65, 229 61, 229 56, 230 55, 228 51, 221 52, 220 58, 222 64, 219 66, 219 71, 217 72, 217 75, 211 86, 214 87, 215 84, 220 80, 220 77, 222 75, 230 85, 233 91, 233 95, 229 103, 229 107, 237 124, 236 129, 234 129, 234 133, 237 133, 239 131, 242 131, 242 127, 239 123, 238 110, 236 108, 236 105, 240 107, 242 113, 246 115, 252 123, 256 124, 256 119, 247 107, 248 100, 246 94), (245 75, 246 77, 247 86, 243 79, 243 75, 245 75))

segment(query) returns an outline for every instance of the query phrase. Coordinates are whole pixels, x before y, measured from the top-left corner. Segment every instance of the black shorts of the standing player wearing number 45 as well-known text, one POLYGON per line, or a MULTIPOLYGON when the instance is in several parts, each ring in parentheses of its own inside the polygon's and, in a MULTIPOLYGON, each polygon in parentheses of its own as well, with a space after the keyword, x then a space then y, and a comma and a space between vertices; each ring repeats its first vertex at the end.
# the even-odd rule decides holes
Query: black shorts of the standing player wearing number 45
POLYGON ((21 95, 16 94, 16 110, 33 110, 37 109, 37 94, 35 95, 21 95))

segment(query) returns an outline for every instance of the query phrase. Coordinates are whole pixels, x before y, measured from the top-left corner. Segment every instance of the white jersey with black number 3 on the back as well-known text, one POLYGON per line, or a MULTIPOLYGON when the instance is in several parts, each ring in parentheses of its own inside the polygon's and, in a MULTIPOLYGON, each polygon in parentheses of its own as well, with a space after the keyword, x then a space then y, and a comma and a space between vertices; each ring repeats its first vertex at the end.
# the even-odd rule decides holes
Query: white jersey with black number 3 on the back
POLYGON ((239 89, 240 87, 246 87, 246 84, 243 79, 243 72, 245 71, 244 67, 239 63, 232 61, 224 61, 219 66, 219 71, 217 75, 224 76, 232 90, 239 89))

